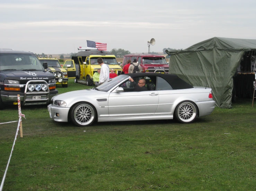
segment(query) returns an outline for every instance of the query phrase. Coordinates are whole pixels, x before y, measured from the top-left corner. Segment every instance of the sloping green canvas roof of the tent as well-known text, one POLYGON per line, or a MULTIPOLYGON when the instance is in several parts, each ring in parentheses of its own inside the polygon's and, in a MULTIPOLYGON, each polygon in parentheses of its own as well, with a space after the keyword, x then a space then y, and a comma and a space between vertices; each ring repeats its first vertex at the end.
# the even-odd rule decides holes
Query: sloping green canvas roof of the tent
POLYGON ((209 50, 213 48, 230 50, 230 51, 250 51, 256 50, 256 40, 255 39, 232 39, 232 38, 222 38, 222 37, 213 37, 202 42, 198 42, 191 47, 186 48, 185 50, 166 50, 166 53, 176 54, 181 52, 192 52, 192 51, 201 51, 209 50))

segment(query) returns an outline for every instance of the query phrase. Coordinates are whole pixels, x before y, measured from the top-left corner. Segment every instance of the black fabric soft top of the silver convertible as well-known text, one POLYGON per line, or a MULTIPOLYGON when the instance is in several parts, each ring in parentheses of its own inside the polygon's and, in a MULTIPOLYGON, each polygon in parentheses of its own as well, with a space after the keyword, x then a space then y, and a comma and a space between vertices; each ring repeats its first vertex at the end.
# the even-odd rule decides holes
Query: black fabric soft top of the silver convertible
POLYGON ((130 73, 130 74, 123 74, 123 75, 130 76, 131 78, 146 77, 146 76, 150 78, 151 76, 159 76, 161 78, 164 78, 174 90, 194 88, 189 83, 185 82, 175 74, 130 73))

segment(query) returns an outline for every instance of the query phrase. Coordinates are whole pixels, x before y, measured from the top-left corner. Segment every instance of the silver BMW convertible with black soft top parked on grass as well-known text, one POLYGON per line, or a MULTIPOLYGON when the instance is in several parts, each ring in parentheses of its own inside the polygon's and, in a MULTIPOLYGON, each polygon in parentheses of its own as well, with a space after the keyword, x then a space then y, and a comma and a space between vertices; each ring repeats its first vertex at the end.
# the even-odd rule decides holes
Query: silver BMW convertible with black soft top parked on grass
POLYGON ((210 115, 214 110, 215 101, 211 90, 193 87, 173 74, 123 74, 97 88, 54 96, 48 105, 48 111, 55 121, 71 120, 81 127, 91 125, 95 120, 103 122, 176 118, 181 123, 191 123, 196 117, 210 115), (143 84, 144 91, 138 90, 139 84, 143 84))

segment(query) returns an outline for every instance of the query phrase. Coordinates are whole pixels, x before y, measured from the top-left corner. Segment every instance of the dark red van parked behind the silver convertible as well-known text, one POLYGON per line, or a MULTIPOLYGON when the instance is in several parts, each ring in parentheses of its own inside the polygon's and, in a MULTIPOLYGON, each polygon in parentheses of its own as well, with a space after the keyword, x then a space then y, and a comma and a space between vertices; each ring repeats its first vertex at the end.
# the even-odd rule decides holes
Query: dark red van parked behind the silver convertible
POLYGON ((127 60, 136 58, 140 63, 142 72, 145 73, 169 73, 169 65, 164 56, 155 54, 126 54, 123 59, 122 67, 127 64, 127 60))

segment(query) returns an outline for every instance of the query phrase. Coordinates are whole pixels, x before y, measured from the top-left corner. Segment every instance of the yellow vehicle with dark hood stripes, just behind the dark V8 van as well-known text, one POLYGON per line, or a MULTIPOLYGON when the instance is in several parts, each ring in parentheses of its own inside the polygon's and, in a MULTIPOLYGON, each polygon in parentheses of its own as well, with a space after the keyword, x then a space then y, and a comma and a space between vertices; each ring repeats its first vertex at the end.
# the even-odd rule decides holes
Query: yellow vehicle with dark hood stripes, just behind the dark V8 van
POLYGON ((72 75, 68 76, 67 68, 68 67, 70 68, 71 66, 67 67, 67 65, 66 65, 64 67, 64 65, 63 65, 63 67, 61 67, 61 64, 58 59, 51 58, 51 57, 47 58, 47 56, 44 58, 38 58, 38 59, 42 64, 44 62, 48 63, 48 68, 46 69, 46 72, 50 72, 55 76, 56 85, 61 84, 63 88, 67 88, 68 80, 75 78, 75 76, 73 76, 73 78, 72 78, 72 75))

